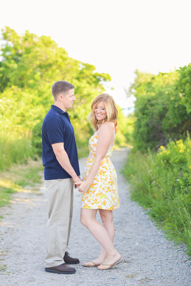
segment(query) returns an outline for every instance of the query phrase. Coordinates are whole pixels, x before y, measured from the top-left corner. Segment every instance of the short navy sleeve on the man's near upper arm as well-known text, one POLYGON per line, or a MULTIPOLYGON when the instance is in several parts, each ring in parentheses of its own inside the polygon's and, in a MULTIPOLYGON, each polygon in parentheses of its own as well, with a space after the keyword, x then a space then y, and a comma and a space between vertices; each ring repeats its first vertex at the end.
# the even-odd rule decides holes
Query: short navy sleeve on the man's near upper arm
POLYGON ((64 142, 65 126, 57 118, 50 118, 46 122, 45 130, 50 144, 64 142))

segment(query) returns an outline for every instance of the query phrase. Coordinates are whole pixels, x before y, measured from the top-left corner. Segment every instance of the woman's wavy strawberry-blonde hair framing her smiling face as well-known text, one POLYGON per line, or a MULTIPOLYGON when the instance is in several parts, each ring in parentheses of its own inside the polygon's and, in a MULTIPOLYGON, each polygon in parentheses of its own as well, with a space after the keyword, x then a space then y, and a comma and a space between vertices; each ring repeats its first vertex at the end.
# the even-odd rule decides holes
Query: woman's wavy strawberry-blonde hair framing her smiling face
POLYGON ((115 132, 117 133, 118 131, 118 109, 116 106, 116 103, 112 96, 106 93, 99 94, 96 96, 96 98, 93 100, 91 104, 91 112, 87 117, 87 120, 91 123, 93 130, 98 131, 99 126, 104 124, 105 122, 112 121, 114 122, 115 125, 115 132), (102 121, 99 122, 95 116, 95 108, 98 105, 99 102, 104 102, 105 107, 106 107, 106 118, 102 121))

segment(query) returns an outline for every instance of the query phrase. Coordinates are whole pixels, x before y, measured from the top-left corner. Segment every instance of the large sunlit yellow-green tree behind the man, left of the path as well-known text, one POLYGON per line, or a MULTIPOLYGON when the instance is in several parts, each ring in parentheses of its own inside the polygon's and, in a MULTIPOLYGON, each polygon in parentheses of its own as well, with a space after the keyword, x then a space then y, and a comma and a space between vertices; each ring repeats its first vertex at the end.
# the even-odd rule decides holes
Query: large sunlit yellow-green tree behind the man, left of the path
POLYGON ((51 85, 57 80, 67 80, 76 87, 77 100, 68 112, 77 145, 87 145, 92 134, 86 120, 90 104, 95 96, 104 92, 110 76, 95 72, 93 65, 68 57, 65 49, 58 47, 50 37, 37 37, 29 31, 19 36, 5 27, 3 40, 0 120, 4 130, 33 134, 33 143, 40 148, 42 120, 53 104, 51 85))

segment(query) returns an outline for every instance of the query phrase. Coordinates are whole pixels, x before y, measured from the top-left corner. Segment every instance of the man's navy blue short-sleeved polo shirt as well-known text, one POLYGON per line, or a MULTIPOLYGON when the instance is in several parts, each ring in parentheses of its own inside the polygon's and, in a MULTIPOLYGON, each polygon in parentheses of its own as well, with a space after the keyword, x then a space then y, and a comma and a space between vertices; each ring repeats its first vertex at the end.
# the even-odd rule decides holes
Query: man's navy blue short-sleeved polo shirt
POLYGON ((59 107, 51 105, 51 109, 46 114, 42 124, 42 161, 45 180, 71 178, 59 164, 51 146, 51 144, 61 142, 64 143, 64 150, 68 155, 70 164, 79 176, 77 147, 69 115, 59 107))

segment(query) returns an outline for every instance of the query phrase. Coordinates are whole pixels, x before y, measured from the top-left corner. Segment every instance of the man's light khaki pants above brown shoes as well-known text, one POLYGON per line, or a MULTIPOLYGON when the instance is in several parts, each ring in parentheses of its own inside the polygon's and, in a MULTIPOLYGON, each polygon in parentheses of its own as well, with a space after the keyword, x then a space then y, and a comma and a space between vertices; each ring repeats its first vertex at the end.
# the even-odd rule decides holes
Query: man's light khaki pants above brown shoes
POLYGON ((45 267, 54 267, 64 263, 63 257, 68 246, 73 210, 73 180, 68 178, 45 182, 48 195, 45 267))

